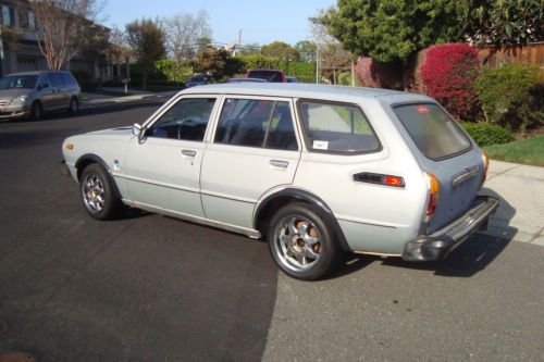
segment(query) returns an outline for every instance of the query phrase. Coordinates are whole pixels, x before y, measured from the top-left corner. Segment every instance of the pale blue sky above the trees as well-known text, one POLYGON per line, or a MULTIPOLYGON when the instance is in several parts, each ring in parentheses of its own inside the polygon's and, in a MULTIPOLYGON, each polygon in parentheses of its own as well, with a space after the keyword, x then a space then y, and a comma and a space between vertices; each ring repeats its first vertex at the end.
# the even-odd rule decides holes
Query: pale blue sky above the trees
POLYGON ((143 16, 196 14, 203 9, 218 42, 233 41, 242 29, 243 43, 281 40, 295 45, 309 37, 308 17, 335 3, 335 0, 108 0, 103 23, 124 28, 126 23, 143 16))

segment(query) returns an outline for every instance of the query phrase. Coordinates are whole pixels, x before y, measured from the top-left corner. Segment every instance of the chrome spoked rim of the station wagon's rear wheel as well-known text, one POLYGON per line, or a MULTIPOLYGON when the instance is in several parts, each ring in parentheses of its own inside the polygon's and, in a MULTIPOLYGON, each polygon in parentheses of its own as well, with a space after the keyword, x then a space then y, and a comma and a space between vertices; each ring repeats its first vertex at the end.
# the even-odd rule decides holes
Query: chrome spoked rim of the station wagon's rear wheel
POLYGON ((321 257, 321 235, 316 225, 302 216, 282 219, 272 242, 279 261, 294 272, 307 271, 321 257))

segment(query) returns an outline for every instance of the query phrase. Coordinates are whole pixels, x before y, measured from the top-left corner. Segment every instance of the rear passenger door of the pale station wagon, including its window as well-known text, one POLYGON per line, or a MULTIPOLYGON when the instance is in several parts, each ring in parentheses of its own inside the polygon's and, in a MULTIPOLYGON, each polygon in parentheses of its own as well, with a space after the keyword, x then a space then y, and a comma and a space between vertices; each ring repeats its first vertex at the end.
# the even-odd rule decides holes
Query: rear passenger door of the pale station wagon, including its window
POLYGON ((225 97, 200 176, 206 216, 252 228, 257 201, 279 185, 290 185, 300 159, 292 101, 225 97))

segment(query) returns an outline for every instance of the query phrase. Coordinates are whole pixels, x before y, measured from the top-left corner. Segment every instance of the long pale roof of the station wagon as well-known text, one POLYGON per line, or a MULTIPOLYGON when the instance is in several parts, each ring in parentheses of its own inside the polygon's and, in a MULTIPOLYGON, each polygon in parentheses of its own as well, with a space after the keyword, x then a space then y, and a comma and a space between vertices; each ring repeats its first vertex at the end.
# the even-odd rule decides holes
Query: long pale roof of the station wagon
POLYGON ((244 96, 269 96, 269 97, 290 97, 308 99, 325 99, 332 101, 358 102, 361 98, 387 99, 390 102, 431 100, 423 95, 410 93, 398 90, 314 85, 301 83, 227 83, 208 86, 199 86, 184 89, 181 93, 218 93, 218 95, 244 95, 244 96))

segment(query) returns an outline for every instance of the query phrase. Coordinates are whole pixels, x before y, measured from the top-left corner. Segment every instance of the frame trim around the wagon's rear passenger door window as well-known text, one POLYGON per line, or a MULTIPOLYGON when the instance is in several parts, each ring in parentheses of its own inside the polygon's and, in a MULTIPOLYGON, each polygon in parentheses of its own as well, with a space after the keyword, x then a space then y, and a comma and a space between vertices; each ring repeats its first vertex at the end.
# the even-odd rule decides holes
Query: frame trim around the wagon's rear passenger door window
MULTIPOLYGON (((297 116, 298 116, 298 113, 296 111, 295 104, 293 104, 293 98, 290 98, 290 97, 285 98, 285 97, 274 97, 274 96, 259 96, 259 95, 254 96, 254 95, 236 95, 236 93, 223 95, 223 97, 221 99, 221 103, 219 104, 218 110, 217 110, 215 124, 213 125, 213 132, 210 135, 210 143, 219 145, 219 146, 228 146, 228 147, 244 147, 244 148, 269 150, 269 151, 301 152, 302 145, 300 142, 300 135, 299 135, 298 125, 297 125, 297 116), (295 133, 297 148, 295 150, 269 148, 269 147, 265 147, 265 143, 264 143, 265 139, 263 140, 263 143, 260 147, 215 142, 215 134, 218 132, 219 123, 221 121, 221 111, 223 110, 224 103, 228 99, 244 99, 244 100, 257 100, 257 101, 263 100, 263 101, 274 102, 275 104, 274 104, 274 108, 272 110, 271 116, 273 115, 273 111, 275 110, 275 107, 277 105, 279 102, 287 103, 289 107, 289 111, 290 111, 290 122, 293 123, 293 132, 295 133)), ((269 126, 270 126, 270 123, 269 123, 269 126)))

